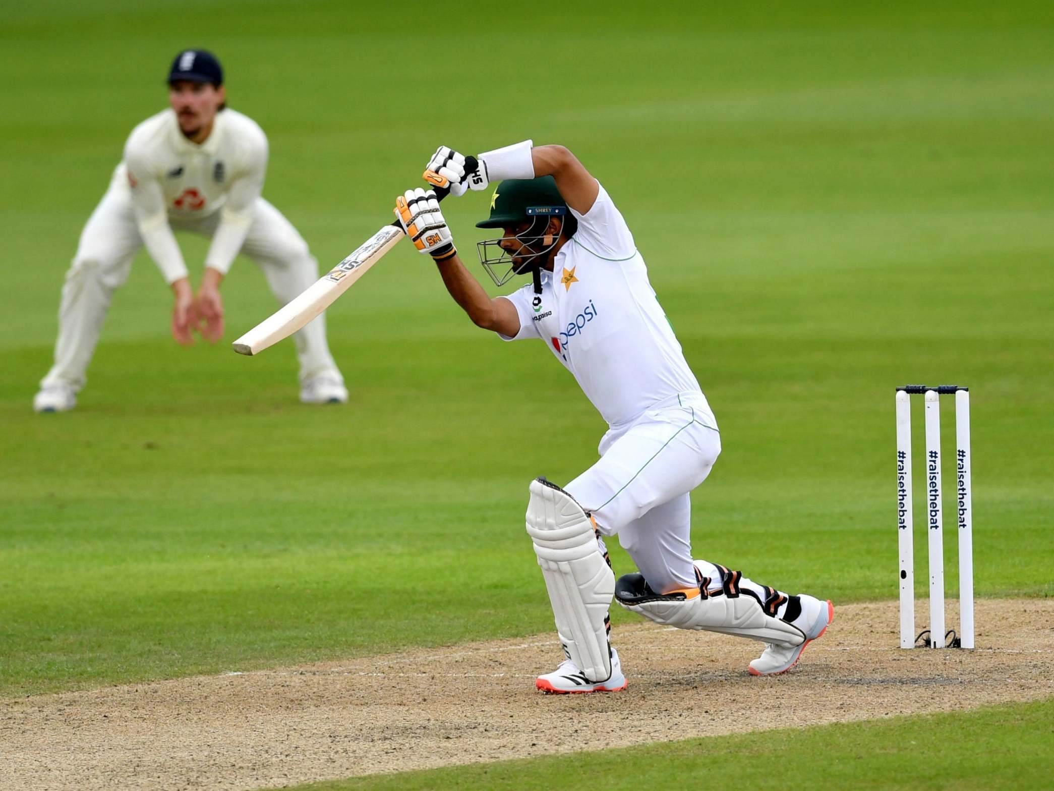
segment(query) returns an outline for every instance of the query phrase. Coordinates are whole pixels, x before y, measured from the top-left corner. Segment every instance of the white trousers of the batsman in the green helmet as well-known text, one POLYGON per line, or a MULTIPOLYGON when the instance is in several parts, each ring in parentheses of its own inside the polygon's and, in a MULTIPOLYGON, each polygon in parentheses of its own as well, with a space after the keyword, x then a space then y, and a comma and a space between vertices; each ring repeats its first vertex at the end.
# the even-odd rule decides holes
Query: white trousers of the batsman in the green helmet
POLYGON ((605 536, 618 534, 651 589, 696 587, 696 565, 720 580, 708 561, 691 558, 688 493, 709 475, 721 435, 706 397, 684 392, 626 424, 611 426, 601 459, 566 490, 605 536))

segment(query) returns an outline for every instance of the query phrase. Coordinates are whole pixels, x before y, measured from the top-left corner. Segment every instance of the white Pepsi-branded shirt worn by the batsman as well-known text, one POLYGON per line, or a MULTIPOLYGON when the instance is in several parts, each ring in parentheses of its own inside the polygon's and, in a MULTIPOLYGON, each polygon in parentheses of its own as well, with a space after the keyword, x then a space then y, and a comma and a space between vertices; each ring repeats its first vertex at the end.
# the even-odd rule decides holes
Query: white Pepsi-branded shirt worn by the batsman
POLYGON ((610 425, 678 393, 700 392, 607 191, 600 188, 586 214, 571 213, 579 228, 553 271, 543 270, 540 297, 530 283, 505 297, 516 308, 520 331, 501 336, 542 339, 610 425))

